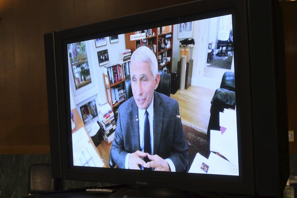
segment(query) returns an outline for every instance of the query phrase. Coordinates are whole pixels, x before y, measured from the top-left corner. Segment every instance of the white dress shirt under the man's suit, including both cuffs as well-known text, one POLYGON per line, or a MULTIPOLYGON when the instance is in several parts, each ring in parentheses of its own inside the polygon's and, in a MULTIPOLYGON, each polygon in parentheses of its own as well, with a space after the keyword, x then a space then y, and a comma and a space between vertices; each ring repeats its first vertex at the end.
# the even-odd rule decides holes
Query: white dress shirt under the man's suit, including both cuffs
MULTIPOLYGON (((154 96, 151 101, 151 104, 147 109, 139 109, 138 108, 138 123, 139 123, 139 140, 140 140, 140 150, 144 152, 144 121, 145 121, 145 110, 149 113, 149 130, 150 130, 150 138, 151 138, 151 155, 154 153, 154 133, 153 133, 153 118, 154 118, 154 96)), ((129 157, 131 153, 128 153, 126 155, 125 159, 125 169, 129 169, 129 157)), ((175 166, 171 159, 167 158, 165 159, 167 163, 169 164, 171 172, 175 172, 175 166)), ((143 170, 143 167, 141 167, 143 170)))

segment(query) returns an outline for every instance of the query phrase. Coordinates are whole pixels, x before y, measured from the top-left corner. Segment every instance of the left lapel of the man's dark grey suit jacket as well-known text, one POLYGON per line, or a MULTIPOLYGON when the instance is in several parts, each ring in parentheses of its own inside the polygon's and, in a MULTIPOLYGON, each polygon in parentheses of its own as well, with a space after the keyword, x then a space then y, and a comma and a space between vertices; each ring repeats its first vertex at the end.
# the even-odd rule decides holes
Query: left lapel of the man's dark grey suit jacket
POLYGON ((140 150, 140 140, 139 140, 139 123, 138 123, 138 107, 133 98, 131 111, 129 113, 130 118, 130 128, 131 128, 131 147, 132 151, 135 152, 140 150))

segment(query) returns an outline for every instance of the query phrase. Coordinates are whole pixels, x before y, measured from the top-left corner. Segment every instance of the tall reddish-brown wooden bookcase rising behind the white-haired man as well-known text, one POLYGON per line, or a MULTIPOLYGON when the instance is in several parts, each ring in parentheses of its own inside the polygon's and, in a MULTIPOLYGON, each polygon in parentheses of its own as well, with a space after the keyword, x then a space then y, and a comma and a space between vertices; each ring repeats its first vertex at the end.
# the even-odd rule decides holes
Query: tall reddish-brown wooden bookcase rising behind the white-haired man
MULTIPOLYGON (((162 28, 162 27, 160 27, 162 28)), ((170 61, 166 62, 164 65, 160 66, 158 63, 158 69, 163 69, 164 67, 168 67, 168 73, 172 72, 172 45, 173 45, 173 25, 171 25, 171 31, 170 32, 162 32, 161 34, 158 34, 158 28, 152 28, 153 32, 155 32, 155 35, 150 36, 150 37, 146 37, 145 39, 147 39, 147 42, 151 42, 151 44, 148 45, 148 47, 156 45, 156 53, 154 53, 156 55, 157 61, 158 61, 158 56, 160 54, 162 54, 163 52, 167 52, 167 57, 170 57, 170 61), (170 40, 170 45, 171 47, 165 49, 165 50, 161 50, 159 49, 158 46, 158 41, 159 39, 161 39, 162 37, 166 37, 167 34, 171 34, 171 37, 169 37, 168 39, 170 40)), ((133 53, 136 48, 137 48, 137 42, 139 42, 140 40, 134 40, 134 41, 130 41, 130 36, 136 34, 136 32, 130 32, 130 33, 126 33, 125 34, 125 42, 126 42, 126 49, 131 49, 131 53, 133 53)))

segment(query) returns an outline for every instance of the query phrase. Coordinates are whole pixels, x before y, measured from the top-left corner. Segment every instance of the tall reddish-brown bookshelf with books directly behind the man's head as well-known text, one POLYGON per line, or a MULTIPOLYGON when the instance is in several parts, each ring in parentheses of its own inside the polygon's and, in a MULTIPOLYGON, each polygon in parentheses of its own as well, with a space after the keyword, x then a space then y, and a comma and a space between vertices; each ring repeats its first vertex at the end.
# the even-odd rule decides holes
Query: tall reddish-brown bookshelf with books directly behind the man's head
MULTIPOLYGON (((156 52, 154 52, 154 54, 156 55, 157 61, 158 58, 160 58, 161 56, 161 60, 163 62, 163 58, 166 55, 166 57, 170 57, 170 60, 167 60, 166 58, 166 62, 160 64, 160 62, 158 61, 158 69, 163 69, 164 67, 168 68, 168 73, 172 72, 172 45, 173 45, 173 25, 170 26, 164 26, 164 27, 160 27, 160 28, 152 28, 152 32, 154 33, 154 35, 146 37, 143 40, 147 40, 146 42, 148 43, 147 46, 151 47, 153 45, 156 45, 156 52), (160 33, 162 28, 162 33, 160 33), (160 29, 160 30, 158 30, 160 29), (166 32, 164 32, 164 30, 166 30, 166 32), (170 37, 166 38, 166 35, 170 37), (163 39, 163 40, 162 40, 163 39), (166 47, 166 49, 162 48, 162 45, 160 45, 160 42, 162 41, 166 41, 166 39, 168 39, 170 41, 170 47, 166 47)), ((139 40, 134 40, 134 41, 130 41, 130 36, 136 34, 137 32, 130 32, 130 33, 126 33, 125 34, 125 42, 126 42, 126 48, 127 49, 131 49, 131 53, 133 53, 137 47, 139 46, 139 43, 141 44, 141 39, 139 40)), ((164 46, 164 45, 163 45, 164 46)))

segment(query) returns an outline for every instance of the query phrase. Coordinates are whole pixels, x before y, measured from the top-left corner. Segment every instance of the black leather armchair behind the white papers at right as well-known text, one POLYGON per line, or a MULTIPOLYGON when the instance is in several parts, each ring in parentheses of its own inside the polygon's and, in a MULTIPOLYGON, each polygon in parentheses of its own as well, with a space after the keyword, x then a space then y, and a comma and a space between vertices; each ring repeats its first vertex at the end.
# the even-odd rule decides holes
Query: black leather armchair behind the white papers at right
POLYGON ((235 109, 235 80, 234 72, 227 71, 222 77, 220 88, 218 88, 211 100, 210 118, 207 128, 207 136, 210 141, 210 130, 220 131, 220 112, 224 109, 235 109))

